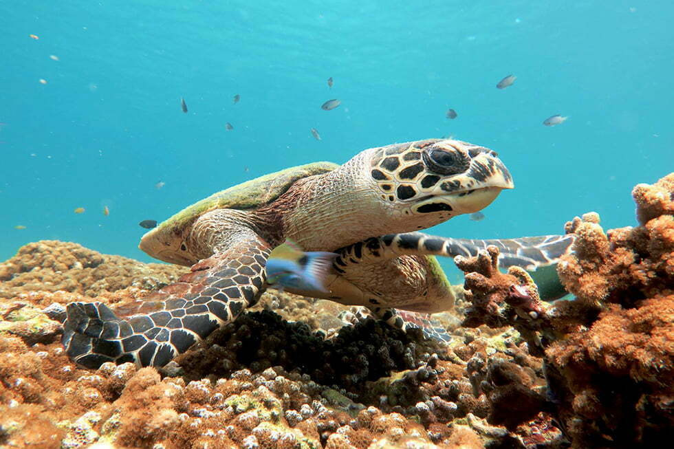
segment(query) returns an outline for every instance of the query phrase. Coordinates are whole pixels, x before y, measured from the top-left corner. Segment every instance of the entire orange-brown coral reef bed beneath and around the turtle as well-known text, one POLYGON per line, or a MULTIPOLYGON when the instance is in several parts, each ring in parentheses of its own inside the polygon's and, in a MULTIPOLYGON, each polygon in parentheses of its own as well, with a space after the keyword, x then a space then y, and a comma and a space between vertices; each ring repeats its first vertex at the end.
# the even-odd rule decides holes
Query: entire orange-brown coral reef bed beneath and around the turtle
POLYGON ((570 298, 542 301, 496 247, 457 259, 466 291, 435 316, 448 344, 270 289, 160 370, 76 366, 64 305, 123 308, 184 268, 30 243, 0 264, 0 447, 660 447, 674 428, 674 174, 633 197, 639 226, 567 223, 570 298))

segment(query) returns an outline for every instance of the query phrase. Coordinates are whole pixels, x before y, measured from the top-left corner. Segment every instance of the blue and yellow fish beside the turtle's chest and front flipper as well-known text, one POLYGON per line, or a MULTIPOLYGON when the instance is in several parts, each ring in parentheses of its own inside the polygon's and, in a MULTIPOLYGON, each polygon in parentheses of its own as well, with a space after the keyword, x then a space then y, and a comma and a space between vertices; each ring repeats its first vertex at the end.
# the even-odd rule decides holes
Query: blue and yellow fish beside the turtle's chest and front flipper
POLYGON ((267 283, 277 289, 327 292, 325 278, 336 257, 334 252, 304 252, 286 241, 269 254, 265 267, 267 283))

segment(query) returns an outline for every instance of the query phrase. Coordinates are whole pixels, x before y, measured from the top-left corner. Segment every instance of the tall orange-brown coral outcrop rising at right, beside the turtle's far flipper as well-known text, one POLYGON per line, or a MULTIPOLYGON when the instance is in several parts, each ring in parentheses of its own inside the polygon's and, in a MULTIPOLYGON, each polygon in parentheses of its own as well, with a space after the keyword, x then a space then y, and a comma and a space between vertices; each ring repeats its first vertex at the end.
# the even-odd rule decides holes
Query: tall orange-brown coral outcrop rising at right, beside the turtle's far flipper
POLYGON ((674 173, 633 197, 635 228, 605 233, 596 213, 567 223, 576 241, 558 273, 573 300, 541 305, 525 276, 498 272, 495 247, 457 261, 471 290, 467 324, 511 325, 543 355, 544 391, 520 366, 490 360, 479 382, 490 423, 512 429, 549 411, 574 448, 651 447, 671 435, 674 173))

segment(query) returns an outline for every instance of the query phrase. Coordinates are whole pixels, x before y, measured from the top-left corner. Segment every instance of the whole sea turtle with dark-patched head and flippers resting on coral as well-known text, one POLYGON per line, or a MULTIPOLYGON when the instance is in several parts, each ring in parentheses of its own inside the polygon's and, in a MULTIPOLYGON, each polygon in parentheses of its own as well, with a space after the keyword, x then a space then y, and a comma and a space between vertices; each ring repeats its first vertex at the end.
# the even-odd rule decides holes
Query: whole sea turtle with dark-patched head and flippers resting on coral
POLYGON ((476 212, 506 188, 513 188, 512 177, 497 153, 438 139, 367 149, 341 166, 316 162, 252 179, 142 237, 141 250, 191 265, 190 273, 116 312, 102 303, 70 303, 63 344, 89 368, 163 366, 257 302, 267 287, 268 256, 286 239, 305 251, 339 254, 328 292, 296 293, 364 305, 404 328, 395 308, 431 313, 453 306, 430 254, 476 254, 496 243, 501 266, 531 269, 569 250, 565 236, 475 241, 413 232, 476 212))

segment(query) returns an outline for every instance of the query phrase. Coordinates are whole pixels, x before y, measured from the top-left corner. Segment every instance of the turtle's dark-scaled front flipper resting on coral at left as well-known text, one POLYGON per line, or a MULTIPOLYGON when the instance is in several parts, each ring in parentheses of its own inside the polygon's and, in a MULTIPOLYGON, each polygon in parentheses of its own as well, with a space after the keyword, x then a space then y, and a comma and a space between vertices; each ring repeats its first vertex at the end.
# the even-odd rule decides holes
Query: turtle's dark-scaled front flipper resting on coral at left
POLYGON ((91 369, 104 362, 164 366, 235 320, 263 291, 270 253, 263 239, 246 237, 135 305, 132 316, 120 318, 103 303, 70 303, 63 325, 67 354, 91 369))

